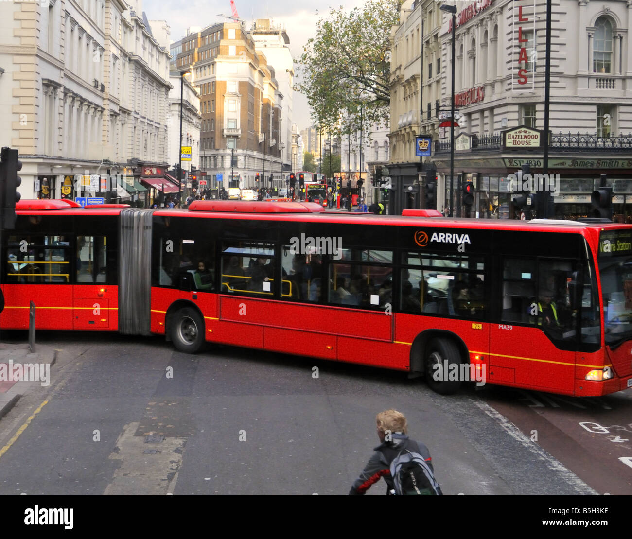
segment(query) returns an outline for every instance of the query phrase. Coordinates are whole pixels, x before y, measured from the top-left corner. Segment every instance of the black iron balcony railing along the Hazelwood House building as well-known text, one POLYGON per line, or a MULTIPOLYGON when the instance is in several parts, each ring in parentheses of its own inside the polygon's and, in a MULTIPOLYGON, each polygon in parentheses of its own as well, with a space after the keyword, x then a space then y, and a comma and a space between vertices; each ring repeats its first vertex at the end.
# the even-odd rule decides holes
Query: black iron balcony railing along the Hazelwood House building
MULTIPOLYGON (((502 135, 472 135, 473 152, 500 150, 502 135)), ((630 152, 632 151, 632 133, 617 136, 597 136, 590 133, 558 133, 551 135, 550 150, 556 152, 630 152)), ((450 151, 450 141, 435 143, 435 154, 450 151)))

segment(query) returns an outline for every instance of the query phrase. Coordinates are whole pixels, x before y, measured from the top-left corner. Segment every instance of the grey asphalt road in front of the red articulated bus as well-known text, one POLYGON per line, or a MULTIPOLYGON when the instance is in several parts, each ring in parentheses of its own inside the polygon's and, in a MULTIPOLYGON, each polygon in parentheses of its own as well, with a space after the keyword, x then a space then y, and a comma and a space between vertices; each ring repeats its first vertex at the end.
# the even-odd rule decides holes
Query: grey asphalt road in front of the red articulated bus
POLYGON ((632 457, 629 440, 606 441, 631 420, 628 393, 591 408, 497 387, 443 397, 403 373, 303 356, 191 356, 160 337, 102 333, 38 339, 61 353, 52 384, 0 420, 0 494, 346 494, 388 408, 430 449, 444 494, 632 492, 619 459, 632 457))

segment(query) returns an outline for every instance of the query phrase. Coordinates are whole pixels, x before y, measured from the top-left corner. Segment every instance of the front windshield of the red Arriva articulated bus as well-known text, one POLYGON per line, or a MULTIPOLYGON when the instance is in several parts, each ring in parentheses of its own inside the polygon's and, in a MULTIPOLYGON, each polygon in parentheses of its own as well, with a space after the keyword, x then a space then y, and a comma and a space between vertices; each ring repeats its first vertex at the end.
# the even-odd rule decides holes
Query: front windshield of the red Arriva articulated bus
POLYGON ((605 344, 632 338, 632 233, 604 231, 599 238, 599 272, 604 296, 605 344))

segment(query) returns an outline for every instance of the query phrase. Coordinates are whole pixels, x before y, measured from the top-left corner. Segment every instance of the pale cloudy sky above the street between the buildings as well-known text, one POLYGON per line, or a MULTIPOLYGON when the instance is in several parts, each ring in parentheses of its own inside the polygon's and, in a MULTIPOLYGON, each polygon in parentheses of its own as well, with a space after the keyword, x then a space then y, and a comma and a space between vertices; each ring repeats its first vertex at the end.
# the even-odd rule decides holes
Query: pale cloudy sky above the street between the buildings
MULTIPOLYGON (((128 3, 140 3, 140 9, 145 11, 149 20, 167 21, 172 41, 185 37, 189 27, 205 28, 227 20, 220 14, 231 16, 233 13, 230 0, 128 0, 128 3)), ((331 3, 314 0, 235 0, 240 19, 246 21, 246 28, 252 27, 253 20, 261 18, 271 18, 274 23, 284 25, 294 59, 303 53, 307 40, 315 37, 317 21, 321 17, 326 18, 330 8, 342 6, 350 10, 362 3, 362 0, 337 0, 331 3)), ((299 132, 312 124, 307 97, 298 92, 294 92, 292 123, 298 125, 299 132)))

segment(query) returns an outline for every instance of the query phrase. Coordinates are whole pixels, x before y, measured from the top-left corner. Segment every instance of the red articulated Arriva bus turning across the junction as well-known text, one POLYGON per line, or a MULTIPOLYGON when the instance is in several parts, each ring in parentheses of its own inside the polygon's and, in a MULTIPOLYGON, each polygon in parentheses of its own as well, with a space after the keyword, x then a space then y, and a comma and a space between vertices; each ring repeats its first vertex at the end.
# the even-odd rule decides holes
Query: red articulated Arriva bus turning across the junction
POLYGON ((473 379, 574 396, 632 387, 629 225, 229 200, 21 201, 16 214, 4 328, 26 329, 32 300, 38 329, 347 361, 425 375, 442 394, 473 379))

